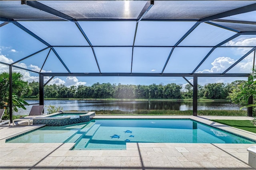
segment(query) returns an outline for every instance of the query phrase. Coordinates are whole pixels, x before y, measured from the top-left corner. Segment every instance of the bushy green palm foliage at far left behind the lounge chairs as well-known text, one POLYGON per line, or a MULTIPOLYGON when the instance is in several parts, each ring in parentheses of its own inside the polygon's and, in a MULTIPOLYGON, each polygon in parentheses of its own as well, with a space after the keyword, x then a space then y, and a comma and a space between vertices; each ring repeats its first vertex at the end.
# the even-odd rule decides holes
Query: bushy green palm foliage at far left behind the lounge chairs
MULTIPOLYGON (((28 104, 22 98, 32 93, 28 82, 22 80, 23 76, 20 72, 12 72, 12 105, 28 104)), ((0 73, 0 106, 9 105, 9 73, 0 73)), ((9 112, 9 107, 6 107, 6 114, 9 112)), ((18 108, 26 109, 24 106, 13 106, 13 111, 18 111, 18 108)))

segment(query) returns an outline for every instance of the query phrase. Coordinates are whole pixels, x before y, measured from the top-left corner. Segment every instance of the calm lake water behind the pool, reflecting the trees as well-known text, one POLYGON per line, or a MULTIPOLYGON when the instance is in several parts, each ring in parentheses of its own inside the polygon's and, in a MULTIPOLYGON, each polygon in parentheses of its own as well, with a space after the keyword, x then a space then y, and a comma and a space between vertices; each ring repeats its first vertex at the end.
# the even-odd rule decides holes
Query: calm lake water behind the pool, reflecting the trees
MULTIPOLYGON (((38 100, 27 100, 29 104, 39 103, 38 100)), ((63 107, 64 111, 97 111, 137 109, 192 110, 192 102, 181 101, 95 101, 95 100, 44 100, 44 106, 54 105, 63 107)), ((14 115, 28 115, 32 106, 27 110, 19 109, 14 115)), ((229 102, 198 102, 198 110, 239 110, 240 106, 229 102)))

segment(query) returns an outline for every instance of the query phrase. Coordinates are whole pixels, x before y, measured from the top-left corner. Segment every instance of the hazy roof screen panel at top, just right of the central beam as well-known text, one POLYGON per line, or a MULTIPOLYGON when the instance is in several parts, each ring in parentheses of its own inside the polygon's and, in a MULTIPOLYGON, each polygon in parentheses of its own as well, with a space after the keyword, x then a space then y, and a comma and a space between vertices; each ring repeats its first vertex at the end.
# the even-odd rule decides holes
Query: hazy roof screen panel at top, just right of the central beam
POLYGON ((250 1, 154 1, 145 19, 200 19, 233 10, 250 1))

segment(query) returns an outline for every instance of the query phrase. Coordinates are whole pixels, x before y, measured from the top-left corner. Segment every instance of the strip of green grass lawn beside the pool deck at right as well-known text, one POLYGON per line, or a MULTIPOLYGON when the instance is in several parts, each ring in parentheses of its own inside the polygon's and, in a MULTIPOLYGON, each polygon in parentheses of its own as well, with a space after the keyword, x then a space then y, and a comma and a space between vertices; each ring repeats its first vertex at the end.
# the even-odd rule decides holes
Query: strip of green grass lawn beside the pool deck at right
POLYGON ((250 120, 211 120, 224 125, 236 127, 249 132, 256 133, 256 126, 254 126, 250 120))

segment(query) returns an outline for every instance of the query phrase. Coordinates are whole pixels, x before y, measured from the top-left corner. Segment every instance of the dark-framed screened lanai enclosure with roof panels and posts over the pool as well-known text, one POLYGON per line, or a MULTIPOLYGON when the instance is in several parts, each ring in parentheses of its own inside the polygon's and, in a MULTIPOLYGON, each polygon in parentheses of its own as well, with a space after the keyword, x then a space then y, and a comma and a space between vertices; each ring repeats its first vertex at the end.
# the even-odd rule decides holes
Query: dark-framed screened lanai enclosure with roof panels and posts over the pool
POLYGON ((0 72, 39 77, 40 105, 56 76, 181 77, 197 115, 199 77, 248 77, 255 62, 253 0, 1 0, 0 20, 0 72))

